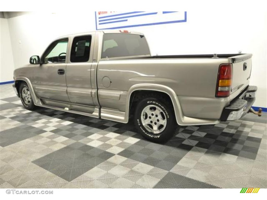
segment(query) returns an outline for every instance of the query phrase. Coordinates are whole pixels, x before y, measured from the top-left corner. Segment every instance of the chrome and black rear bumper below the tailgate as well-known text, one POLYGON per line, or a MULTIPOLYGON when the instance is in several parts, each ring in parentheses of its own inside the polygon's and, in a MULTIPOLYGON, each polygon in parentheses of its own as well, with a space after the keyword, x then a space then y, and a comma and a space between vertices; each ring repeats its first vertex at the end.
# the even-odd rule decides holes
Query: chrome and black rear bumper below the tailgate
POLYGON ((257 86, 248 86, 241 94, 230 102, 230 105, 222 111, 221 121, 233 121, 240 119, 248 113, 256 97, 257 86))

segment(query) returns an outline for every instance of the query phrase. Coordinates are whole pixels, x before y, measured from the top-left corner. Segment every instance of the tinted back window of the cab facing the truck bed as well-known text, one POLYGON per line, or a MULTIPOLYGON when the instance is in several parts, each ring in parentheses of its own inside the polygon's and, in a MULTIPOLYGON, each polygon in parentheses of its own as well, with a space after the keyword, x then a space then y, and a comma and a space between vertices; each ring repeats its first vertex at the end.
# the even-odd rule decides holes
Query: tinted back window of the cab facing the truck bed
POLYGON ((149 55, 150 51, 143 35, 107 33, 103 35, 101 58, 149 55))

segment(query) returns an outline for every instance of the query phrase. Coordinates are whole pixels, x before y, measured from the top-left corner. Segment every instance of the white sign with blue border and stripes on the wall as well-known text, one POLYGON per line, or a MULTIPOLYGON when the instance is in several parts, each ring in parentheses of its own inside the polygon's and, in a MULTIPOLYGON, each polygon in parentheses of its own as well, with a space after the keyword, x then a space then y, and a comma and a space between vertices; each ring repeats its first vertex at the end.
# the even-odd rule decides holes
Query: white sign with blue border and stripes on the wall
POLYGON ((186 11, 96 11, 96 30, 186 22, 186 11))

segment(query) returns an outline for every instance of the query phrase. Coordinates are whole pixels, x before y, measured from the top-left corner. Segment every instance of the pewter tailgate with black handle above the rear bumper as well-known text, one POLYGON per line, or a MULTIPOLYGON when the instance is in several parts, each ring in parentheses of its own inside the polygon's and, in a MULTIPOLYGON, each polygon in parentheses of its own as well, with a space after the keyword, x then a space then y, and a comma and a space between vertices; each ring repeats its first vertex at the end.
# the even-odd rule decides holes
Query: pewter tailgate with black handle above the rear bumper
MULTIPOLYGON (((242 54, 230 57, 233 63, 233 79, 231 93, 240 93, 246 86, 249 85, 251 73, 252 54, 242 54)), ((235 95, 234 95, 235 96, 235 95)))

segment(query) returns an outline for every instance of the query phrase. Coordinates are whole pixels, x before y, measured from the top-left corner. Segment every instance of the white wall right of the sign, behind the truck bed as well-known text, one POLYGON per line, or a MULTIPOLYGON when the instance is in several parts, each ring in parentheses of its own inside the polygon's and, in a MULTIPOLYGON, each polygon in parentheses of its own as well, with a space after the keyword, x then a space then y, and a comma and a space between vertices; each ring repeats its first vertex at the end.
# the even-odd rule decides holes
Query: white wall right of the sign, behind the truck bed
MULTIPOLYGON (((253 106, 267 107, 267 15, 244 9, 187 12, 187 22, 134 27, 146 35, 152 54, 252 53, 253 106)), ((190 75, 189 75, 190 77, 190 75)))

